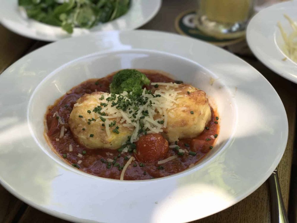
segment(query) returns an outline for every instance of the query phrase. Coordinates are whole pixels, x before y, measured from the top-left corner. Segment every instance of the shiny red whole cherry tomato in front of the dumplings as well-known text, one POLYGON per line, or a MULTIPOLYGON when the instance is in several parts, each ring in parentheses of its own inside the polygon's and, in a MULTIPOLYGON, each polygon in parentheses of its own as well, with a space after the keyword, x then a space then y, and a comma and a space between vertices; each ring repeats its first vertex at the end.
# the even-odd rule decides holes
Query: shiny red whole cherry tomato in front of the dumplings
POLYGON ((140 136, 136 144, 136 160, 142 162, 157 161, 169 150, 168 141, 160 134, 140 136))

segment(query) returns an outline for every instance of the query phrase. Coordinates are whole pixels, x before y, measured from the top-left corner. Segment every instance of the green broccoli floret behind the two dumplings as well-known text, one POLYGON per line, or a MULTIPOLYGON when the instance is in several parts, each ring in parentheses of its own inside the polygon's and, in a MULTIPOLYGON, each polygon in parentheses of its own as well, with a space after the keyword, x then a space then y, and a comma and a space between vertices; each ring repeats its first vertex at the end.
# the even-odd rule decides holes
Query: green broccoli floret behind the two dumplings
POLYGON ((132 92, 133 95, 141 95, 142 86, 149 83, 150 80, 138 70, 125 69, 113 76, 109 89, 111 93, 116 94, 127 91, 132 92))

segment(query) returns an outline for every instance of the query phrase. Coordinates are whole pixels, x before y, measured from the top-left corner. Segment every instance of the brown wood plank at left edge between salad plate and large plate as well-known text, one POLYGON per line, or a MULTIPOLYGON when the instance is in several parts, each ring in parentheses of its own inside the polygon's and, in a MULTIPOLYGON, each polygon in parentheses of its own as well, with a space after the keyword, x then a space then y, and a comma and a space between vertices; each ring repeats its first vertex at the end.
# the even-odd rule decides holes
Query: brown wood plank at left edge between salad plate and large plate
POLYGON ((0 74, 18 60, 35 40, 19 36, 0 25, 0 74))

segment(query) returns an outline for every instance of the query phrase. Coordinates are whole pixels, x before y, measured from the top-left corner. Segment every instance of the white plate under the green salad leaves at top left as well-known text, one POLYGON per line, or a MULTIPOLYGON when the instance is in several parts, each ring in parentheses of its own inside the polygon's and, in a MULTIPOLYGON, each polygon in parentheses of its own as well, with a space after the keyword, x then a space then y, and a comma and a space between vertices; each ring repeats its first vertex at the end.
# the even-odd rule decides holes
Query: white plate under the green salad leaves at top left
POLYGON ((28 19, 18 7, 18 0, 0 0, 0 23, 11 31, 43 41, 57 41, 100 31, 132 30, 150 21, 159 11, 162 0, 131 0, 128 12, 121 17, 101 23, 91 29, 75 28, 68 34, 61 27, 28 19))

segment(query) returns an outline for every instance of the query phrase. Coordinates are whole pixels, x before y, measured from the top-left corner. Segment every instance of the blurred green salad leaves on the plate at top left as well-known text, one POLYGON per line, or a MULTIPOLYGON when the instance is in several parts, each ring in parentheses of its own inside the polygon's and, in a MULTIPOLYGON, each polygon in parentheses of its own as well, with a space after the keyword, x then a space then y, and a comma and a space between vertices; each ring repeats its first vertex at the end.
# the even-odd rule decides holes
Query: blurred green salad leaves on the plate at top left
POLYGON ((72 33, 74 27, 90 29, 124 15, 130 0, 18 0, 18 4, 29 18, 72 33))

